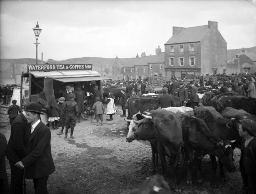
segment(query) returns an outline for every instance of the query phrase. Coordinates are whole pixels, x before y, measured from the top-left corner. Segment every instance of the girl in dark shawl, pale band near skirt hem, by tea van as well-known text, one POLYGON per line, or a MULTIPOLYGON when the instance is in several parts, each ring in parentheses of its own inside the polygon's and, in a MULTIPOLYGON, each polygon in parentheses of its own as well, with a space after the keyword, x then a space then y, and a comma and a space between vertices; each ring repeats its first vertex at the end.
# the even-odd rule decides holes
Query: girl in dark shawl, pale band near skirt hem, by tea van
POLYGON ((54 95, 50 96, 49 101, 50 114, 48 121, 52 122, 52 129, 59 129, 58 120, 59 120, 59 105, 56 102, 54 95))

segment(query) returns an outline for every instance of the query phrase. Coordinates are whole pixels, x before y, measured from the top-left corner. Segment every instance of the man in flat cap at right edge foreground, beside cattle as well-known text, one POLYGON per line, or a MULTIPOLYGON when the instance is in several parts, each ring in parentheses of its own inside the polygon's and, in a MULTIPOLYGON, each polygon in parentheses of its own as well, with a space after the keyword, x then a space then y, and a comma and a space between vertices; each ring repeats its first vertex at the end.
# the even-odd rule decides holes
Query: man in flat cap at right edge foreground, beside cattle
POLYGON ((240 120, 238 131, 242 137, 239 162, 243 179, 241 190, 242 193, 253 194, 256 191, 256 122, 240 120))

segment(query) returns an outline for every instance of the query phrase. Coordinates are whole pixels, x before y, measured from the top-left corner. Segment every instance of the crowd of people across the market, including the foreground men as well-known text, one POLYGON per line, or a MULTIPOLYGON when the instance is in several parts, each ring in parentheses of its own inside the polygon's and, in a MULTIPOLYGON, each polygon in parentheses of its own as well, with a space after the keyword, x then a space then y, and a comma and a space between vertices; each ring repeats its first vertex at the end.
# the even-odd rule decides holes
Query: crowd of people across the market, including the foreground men
MULTIPOLYGON (((162 108, 175 106, 174 98, 176 95, 180 99, 181 105, 186 106, 190 102, 191 107, 198 106, 198 89, 218 87, 221 93, 236 92, 242 96, 256 98, 255 75, 241 75, 239 78, 223 78, 219 76, 217 81, 213 81, 213 77, 207 81, 203 76, 200 81, 197 78, 186 83, 186 80, 172 79, 167 81, 162 88, 162 95, 159 97, 159 103, 162 108), (201 80, 202 79, 202 80, 201 80), (190 95, 188 95, 188 90, 190 95), (172 95, 170 95, 172 94, 172 95)), ((146 93, 147 82, 140 81, 141 94, 146 93)), ((52 129, 61 130, 58 135, 64 134, 67 139, 68 130, 70 129, 70 139, 73 139, 74 127, 76 122, 80 121, 80 115, 83 113, 83 102, 88 95, 93 100, 93 110, 97 125, 103 120, 105 112, 102 104, 102 94, 98 90, 97 85, 90 85, 91 89, 85 89, 85 85, 77 83, 74 89, 72 84, 65 86, 63 96, 56 99, 54 95, 50 96, 49 102, 46 100, 45 92, 39 94, 37 103, 28 103, 24 111, 16 105, 16 100, 12 101, 12 105, 8 109, 9 120, 11 124, 11 136, 7 143, 4 135, 0 133, 0 193, 22 193, 25 190, 25 179, 33 179, 36 194, 47 193, 48 176, 55 171, 54 161, 51 155, 50 144, 50 124, 52 129), (20 114, 19 114, 19 113, 20 114), (6 148, 6 149, 5 149, 6 148), (10 187, 7 181, 5 155, 9 160, 11 168, 10 187), (25 169, 25 170, 24 170, 25 169)), ((11 86, 6 86, 11 90, 11 86)), ((6 89, 6 91, 7 91, 6 89)), ((138 86, 135 80, 126 81, 126 88, 121 90, 121 106, 123 114, 126 117, 127 100, 135 98, 139 95, 138 86)), ((1 93, 2 97, 3 91, 1 93)), ((5 93, 6 94, 6 93, 5 93)), ((4 96, 4 95, 3 95, 4 96)), ((8 96, 8 95, 6 95, 8 96)), ((5 96, 5 102, 7 98, 5 96)), ((114 103, 114 95, 109 92, 107 103, 108 121, 113 120, 116 113, 114 103)), ((4 102, 4 101, 3 101, 4 102)), ((247 172, 247 165, 256 166, 256 127, 255 122, 240 122, 239 134, 243 138, 241 148, 240 170, 243 178, 244 188, 247 193, 253 193, 256 189, 256 171, 247 172), (252 191, 252 192, 251 192, 252 191)), ((250 168, 252 169, 252 168, 250 168)))

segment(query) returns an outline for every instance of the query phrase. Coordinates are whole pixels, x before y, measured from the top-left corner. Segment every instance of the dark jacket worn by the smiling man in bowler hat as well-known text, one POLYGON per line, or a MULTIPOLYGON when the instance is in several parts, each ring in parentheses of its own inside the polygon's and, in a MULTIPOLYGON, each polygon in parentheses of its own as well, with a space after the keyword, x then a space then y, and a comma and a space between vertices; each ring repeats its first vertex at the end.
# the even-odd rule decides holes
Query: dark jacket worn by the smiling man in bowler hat
POLYGON ((41 121, 28 136, 26 151, 27 156, 21 162, 25 166, 27 179, 46 177, 55 171, 51 152, 51 131, 41 121))

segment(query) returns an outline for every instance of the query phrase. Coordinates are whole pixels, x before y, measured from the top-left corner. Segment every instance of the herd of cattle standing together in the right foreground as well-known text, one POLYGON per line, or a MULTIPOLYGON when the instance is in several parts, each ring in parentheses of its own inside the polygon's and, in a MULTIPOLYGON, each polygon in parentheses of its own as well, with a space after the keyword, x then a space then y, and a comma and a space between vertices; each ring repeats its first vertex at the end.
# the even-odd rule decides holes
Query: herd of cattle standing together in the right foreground
MULTIPOLYGON (((152 148, 151 171, 155 171, 158 157, 161 174, 167 167, 165 156, 170 157, 174 175, 175 191, 181 193, 178 179, 178 160, 182 154, 187 164, 187 184, 192 183, 191 169, 197 168, 197 180, 203 182, 200 164, 209 154, 212 163, 211 187, 216 188, 216 157, 219 159, 221 179, 226 179, 223 166, 235 171, 234 148, 240 148, 239 120, 256 121, 256 98, 237 96, 234 93, 218 94, 208 91, 202 95, 202 105, 168 107, 161 109, 158 97, 139 97, 128 100, 128 135, 126 142, 148 140, 152 148)), ((178 101, 177 101, 178 102, 178 101)), ((177 105, 177 104, 176 104, 177 105)))

